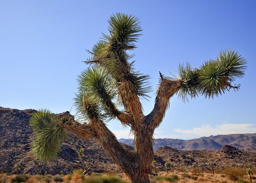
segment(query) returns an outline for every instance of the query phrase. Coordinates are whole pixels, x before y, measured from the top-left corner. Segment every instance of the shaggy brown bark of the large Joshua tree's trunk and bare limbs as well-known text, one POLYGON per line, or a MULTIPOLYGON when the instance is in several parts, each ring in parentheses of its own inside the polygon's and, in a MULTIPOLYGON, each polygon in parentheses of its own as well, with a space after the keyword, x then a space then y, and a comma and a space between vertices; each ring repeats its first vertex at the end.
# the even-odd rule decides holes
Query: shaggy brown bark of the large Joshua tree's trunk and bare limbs
MULTIPOLYGON (((81 139, 90 140, 96 138, 104 151, 110 155, 119 168, 131 179, 131 182, 149 183, 151 163, 154 156, 152 146, 153 132, 165 116, 169 99, 179 90, 179 87, 179 82, 162 78, 155 100, 155 107, 146 117, 141 114, 141 110, 138 110, 141 104, 137 97, 133 96, 134 99, 129 100, 132 102, 125 104, 125 108, 129 112, 119 113, 117 118, 123 124, 131 127, 131 131, 134 133, 135 152, 126 150, 117 141, 116 136, 106 127, 105 123, 99 119, 91 119, 86 124, 71 121, 61 125, 81 139), (136 103, 137 106, 134 106, 136 103)), ((124 102, 125 98, 122 98, 122 100, 124 102)))

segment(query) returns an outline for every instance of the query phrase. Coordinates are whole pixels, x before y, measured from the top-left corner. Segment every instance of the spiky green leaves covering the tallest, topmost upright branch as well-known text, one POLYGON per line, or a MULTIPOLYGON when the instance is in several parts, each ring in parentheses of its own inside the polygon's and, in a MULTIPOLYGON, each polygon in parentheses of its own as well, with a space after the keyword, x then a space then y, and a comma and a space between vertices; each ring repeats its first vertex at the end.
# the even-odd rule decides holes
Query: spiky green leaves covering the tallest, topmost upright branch
POLYGON ((138 18, 117 13, 111 16, 108 22, 109 35, 103 35, 104 40, 94 45, 91 51, 93 58, 88 59, 88 62, 106 68, 117 84, 125 78, 131 84, 131 92, 141 97, 148 97, 149 76, 134 70, 134 62, 129 62, 134 55, 126 52, 135 48, 134 43, 140 35, 138 18))

